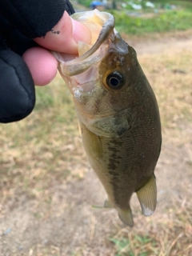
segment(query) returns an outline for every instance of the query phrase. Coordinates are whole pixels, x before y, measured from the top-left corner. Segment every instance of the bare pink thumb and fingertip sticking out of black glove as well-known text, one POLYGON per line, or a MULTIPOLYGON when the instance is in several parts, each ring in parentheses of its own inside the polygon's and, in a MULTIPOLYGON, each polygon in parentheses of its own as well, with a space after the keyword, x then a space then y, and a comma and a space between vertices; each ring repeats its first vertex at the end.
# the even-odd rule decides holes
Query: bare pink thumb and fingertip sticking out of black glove
POLYGON ((34 42, 44 48, 32 47, 22 55, 30 68, 34 83, 44 86, 57 74, 58 61, 49 50, 75 55, 78 54, 78 41, 90 43, 90 40, 90 30, 70 18, 65 11, 58 24, 45 37, 34 38, 34 42))

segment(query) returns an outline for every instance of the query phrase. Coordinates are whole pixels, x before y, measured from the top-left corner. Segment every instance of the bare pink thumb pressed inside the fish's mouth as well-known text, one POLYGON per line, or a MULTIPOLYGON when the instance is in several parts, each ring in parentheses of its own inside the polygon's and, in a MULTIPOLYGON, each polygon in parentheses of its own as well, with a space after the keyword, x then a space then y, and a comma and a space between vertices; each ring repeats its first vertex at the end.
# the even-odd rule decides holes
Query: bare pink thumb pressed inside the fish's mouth
POLYGON ((82 23, 70 18, 65 11, 62 18, 45 37, 34 38, 38 45, 66 54, 78 54, 78 41, 90 43, 90 30, 82 23))

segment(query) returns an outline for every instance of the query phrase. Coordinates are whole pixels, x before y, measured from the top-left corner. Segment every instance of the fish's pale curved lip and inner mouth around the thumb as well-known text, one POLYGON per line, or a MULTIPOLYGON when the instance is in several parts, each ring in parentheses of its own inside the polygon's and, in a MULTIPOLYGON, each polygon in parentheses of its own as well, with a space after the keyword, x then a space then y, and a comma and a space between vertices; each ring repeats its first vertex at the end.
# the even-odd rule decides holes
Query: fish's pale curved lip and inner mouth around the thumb
MULTIPOLYGON (((75 13, 71 15, 71 17, 75 20, 78 20, 78 22, 83 23, 86 21, 86 26, 90 28, 90 30, 94 20, 97 22, 99 21, 98 30, 99 26, 101 27, 101 30, 98 34, 96 42, 93 42, 92 40, 92 45, 87 45, 84 42, 78 42, 78 58, 74 58, 73 60, 66 62, 65 55, 58 52, 53 52, 54 56, 60 63, 59 69, 61 74, 67 76, 81 74, 90 66, 98 63, 102 59, 106 49, 109 46, 108 40, 110 38, 110 34, 112 34, 114 30, 114 16, 109 13, 100 13, 98 10, 92 10, 89 12, 85 11, 81 13, 75 13), (92 22, 87 22, 87 20, 92 22)), ((95 38, 95 34, 93 38, 95 38)))

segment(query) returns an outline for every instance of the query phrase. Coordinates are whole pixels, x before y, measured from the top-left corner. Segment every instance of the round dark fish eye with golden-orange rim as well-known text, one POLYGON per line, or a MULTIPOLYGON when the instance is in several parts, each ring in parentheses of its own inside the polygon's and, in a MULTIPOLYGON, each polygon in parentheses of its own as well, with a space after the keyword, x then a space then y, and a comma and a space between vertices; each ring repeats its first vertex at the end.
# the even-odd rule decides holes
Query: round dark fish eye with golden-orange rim
POLYGON ((119 90, 124 84, 124 78, 118 71, 111 72, 106 77, 106 86, 112 90, 119 90))

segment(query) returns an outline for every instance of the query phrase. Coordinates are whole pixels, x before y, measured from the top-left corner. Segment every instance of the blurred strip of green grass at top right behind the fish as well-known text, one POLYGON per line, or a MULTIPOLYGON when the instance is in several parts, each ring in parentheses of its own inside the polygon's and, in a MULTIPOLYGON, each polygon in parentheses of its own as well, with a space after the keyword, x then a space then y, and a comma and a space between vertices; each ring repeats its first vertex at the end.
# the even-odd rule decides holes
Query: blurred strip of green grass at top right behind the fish
MULTIPOLYGON (((188 30, 192 27, 192 1, 151 1, 154 3, 155 10, 158 10, 158 13, 154 13, 153 8, 146 7, 147 1, 134 0, 133 2, 142 5, 142 10, 134 10, 128 4, 122 8, 122 1, 116 1, 118 10, 106 10, 114 15, 116 20, 115 27, 121 33, 143 35, 154 32, 188 30), (169 10, 171 5, 174 5, 176 9, 169 10), (133 12, 138 16, 130 16, 133 12)), ((86 0, 82 4, 89 7, 90 1, 86 0)))

